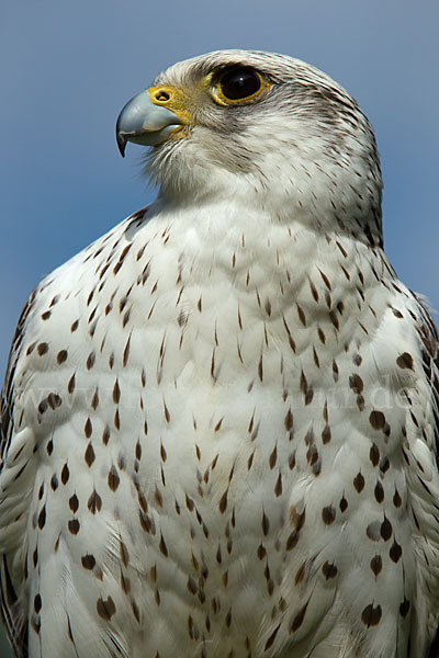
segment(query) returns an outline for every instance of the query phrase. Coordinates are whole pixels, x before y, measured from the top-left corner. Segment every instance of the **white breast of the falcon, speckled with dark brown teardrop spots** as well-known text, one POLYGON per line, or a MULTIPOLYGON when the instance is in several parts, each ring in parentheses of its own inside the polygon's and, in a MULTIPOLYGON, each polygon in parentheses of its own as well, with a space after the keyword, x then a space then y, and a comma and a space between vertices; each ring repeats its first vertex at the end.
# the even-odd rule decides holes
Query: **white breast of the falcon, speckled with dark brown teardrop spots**
POLYGON ((227 213, 153 206, 33 303, 15 410, 40 457, 32 656, 405 646, 413 300, 380 251, 227 213))

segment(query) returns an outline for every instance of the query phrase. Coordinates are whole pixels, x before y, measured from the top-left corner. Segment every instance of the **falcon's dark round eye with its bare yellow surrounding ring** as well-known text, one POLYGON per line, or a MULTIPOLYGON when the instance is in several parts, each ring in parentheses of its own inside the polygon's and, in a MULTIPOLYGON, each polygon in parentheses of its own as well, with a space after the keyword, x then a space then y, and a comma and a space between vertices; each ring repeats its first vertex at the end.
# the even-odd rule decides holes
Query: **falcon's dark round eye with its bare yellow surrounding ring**
POLYGON ((249 67, 234 66, 221 71, 214 80, 212 98, 219 105, 248 103, 269 89, 268 80, 249 67))

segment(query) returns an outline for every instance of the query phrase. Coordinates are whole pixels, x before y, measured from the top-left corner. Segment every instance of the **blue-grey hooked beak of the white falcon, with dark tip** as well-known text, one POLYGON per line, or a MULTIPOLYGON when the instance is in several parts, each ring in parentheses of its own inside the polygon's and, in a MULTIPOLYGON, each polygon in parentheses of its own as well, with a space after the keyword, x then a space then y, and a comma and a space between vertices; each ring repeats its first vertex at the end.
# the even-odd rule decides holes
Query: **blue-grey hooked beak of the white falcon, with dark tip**
POLYGON ((135 95, 122 109, 116 123, 116 140, 121 156, 127 141, 156 146, 182 125, 179 116, 151 102, 148 91, 135 95))

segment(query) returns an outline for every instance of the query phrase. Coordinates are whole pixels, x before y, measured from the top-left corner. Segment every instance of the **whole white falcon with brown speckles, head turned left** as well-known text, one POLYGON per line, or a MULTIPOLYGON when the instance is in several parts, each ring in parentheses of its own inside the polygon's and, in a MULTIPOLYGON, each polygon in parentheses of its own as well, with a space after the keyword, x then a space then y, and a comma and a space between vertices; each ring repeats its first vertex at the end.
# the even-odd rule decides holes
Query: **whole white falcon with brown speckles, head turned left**
POLYGON ((176 64, 116 126, 157 200, 30 296, 3 388, 20 658, 426 658, 438 333, 372 128, 286 56, 176 64))

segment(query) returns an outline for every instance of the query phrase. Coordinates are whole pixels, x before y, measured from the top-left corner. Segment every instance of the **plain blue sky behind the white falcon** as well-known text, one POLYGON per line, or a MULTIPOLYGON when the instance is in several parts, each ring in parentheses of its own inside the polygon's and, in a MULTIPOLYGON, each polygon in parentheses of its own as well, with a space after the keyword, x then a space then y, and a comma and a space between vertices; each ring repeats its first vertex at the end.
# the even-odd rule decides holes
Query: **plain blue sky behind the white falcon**
POLYGON ((300 57, 360 102, 382 158, 386 252, 439 308, 438 24, 437 0, 2 0, 0 373, 38 280, 153 198, 140 149, 116 149, 123 104, 217 48, 300 57))

